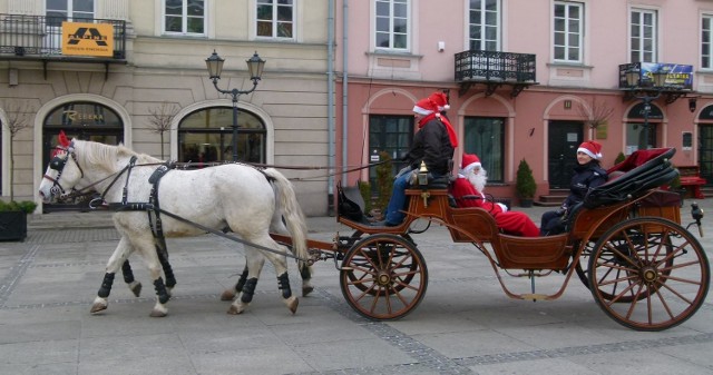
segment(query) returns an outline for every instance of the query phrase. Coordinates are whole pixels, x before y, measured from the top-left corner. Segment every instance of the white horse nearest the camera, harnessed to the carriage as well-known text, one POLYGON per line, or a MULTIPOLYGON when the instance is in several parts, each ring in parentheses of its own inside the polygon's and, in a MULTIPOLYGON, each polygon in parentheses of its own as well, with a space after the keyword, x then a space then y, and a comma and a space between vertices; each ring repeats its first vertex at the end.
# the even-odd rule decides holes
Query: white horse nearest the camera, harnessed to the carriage
MULTIPOLYGON (((136 250, 145 259, 156 289, 157 300, 150 315, 166 316, 169 295, 160 277, 153 224, 146 214, 150 208, 146 204, 152 199, 155 186, 149 178, 162 160, 134 152, 124 146, 76 139, 69 142, 62 140, 61 136, 60 144, 60 151, 52 157, 40 184, 39 195, 43 201, 55 201, 76 186, 90 186, 118 210, 114 215, 114 223, 121 238, 107 263, 91 313, 107 308, 114 276, 136 250)), ((284 218, 300 268, 306 266, 304 260, 309 255, 304 216, 292 185, 282 174, 271 168, 258 170, 228 164, 199 170, 169 170, 157 186, 156 198, 163 210, 162 227, 166 237, 201 235, 206 231, 205 228, 228 228, 255 246, 245 246, 248 280, 241 298, 231 305, 229 314, 241 314, 250 304, 264 258, 273 264, 279 275, 279 287, 285 305, 292 313, 296 312, 299 300, 292 295, 287 277, 287 249, 274 241, 268 233, 271 226, 283 226, 284 218), (252 290, 245 290, 247 286, 252 290)))

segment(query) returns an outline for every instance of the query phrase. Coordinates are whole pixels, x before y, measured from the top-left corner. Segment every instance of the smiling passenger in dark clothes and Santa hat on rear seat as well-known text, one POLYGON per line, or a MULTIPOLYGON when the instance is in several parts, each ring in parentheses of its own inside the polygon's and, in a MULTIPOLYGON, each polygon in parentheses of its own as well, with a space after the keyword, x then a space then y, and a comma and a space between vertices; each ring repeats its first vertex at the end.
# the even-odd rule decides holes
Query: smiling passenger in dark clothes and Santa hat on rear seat
POLYGON ((599 164, 602 145, 587 140, 577 148, 577 166, 569 184, 569 196, 559 209, 543 214, 540 235, 557 235, 565 231, 564 221, 568 218, 568 210, 582 203, 590 189, 606 182, 607 176, 599 164))

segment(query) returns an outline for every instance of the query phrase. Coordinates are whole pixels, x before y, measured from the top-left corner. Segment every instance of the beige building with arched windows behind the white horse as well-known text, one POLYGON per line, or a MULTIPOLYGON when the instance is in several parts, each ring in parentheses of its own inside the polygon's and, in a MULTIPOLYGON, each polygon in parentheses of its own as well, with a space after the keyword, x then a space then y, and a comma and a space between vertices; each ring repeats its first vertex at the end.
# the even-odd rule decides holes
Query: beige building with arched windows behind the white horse
POLYGON ((325 214, 329 171, 299 167, 332 164, 329 3, 0 0, 2 197, 37 199, 60 130, 164 159, 233 160, 234 98, 205 62, 215 51, 217 87, 238 93, 237 158, 290 167, 305 214, 325 214), (254 53, 262 79, 240 95, 254 53))

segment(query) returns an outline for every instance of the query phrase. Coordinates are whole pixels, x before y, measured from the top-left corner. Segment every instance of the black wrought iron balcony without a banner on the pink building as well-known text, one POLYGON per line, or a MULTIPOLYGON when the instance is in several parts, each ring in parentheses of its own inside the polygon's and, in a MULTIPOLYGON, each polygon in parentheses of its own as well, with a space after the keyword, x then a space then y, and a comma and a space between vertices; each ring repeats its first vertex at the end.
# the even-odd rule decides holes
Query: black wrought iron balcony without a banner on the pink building
POLYGON ((456 82, 460 93, 476 83, 486 85, 490 96, 502 86, 512 86, 511 97, 535 81, 535 55, 469 50, 456 53, 456 82))

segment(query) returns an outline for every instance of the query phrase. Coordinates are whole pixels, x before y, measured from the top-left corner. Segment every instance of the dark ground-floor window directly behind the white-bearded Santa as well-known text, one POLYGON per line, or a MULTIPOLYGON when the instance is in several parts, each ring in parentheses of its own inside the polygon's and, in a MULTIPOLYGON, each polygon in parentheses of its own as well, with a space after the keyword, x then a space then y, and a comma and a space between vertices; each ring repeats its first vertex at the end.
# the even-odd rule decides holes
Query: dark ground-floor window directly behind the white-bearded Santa
POLYGON ((482 168, 488 171, 488 181, 504 182, 505 119, 466 117, 463 130, 463 151, 480 158, 482 168))

